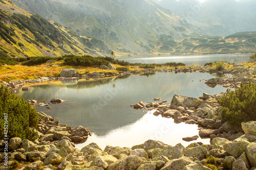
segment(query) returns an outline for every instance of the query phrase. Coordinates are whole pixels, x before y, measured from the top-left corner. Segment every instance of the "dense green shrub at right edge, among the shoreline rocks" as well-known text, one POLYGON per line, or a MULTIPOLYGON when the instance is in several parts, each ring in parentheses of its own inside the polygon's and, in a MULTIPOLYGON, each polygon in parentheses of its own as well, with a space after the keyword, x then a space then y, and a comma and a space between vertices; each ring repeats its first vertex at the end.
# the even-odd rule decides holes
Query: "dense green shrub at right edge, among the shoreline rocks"
POLYGON ((256 120, 256 85, 249 82, 240 84, 235 91, 227 89, 227 94, 218 100, 223 106, 222 122, 228 122, 234 126, 241 126, 242 122, 256 120))

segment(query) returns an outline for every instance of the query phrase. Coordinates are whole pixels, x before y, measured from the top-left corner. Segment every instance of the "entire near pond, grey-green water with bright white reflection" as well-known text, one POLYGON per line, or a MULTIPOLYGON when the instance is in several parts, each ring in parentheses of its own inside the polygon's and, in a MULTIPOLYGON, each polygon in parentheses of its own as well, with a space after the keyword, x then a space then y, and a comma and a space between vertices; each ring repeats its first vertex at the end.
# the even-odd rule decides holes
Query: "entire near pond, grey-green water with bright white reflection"
MULTIPOLYGON (((198 135, 196 125, 174 124, 172 118, 156 117, 145 109, 135 110, 130 105, 140 100, 153 102, 159 96, 171 102, 174 94, 199 97, 203 92, 224 92, 226 89, 222 86, 211 88, 205 81, 200 81, 212 77, 207 73, 157 72, 95 81, 43 82, 32 84, 30 91, 17 91, 17 94, 38 102, 49 103, 52 98, 65 100, 61 104, 51 104, 51 109, 39 106, 36 109, 55 117, 62 124, 81 125, 95 133, 77 148, 91 142, 103 149, 107 144, 132 147, 147 139, 161 140, 170 145, 180 142, 186 146, 189 142, 183 141, 182 137, 198 135)), ((197 141, 209 143, 209 139, 197 141)))

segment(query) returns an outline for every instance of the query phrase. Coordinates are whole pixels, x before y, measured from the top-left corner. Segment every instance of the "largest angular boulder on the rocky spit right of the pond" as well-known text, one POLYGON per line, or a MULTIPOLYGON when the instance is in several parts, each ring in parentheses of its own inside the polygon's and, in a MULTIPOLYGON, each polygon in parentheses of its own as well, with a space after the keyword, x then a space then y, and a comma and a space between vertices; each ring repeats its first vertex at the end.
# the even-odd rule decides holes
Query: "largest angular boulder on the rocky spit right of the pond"
POLYGON ((188 96, 175 94, 173 96, 172 102, 170 102, 171 106, 182 106, 182 107, 195 107, 197 108, 199 105, 203 103, 202 100, 199 100, 197 98, 191 98, 188 96))

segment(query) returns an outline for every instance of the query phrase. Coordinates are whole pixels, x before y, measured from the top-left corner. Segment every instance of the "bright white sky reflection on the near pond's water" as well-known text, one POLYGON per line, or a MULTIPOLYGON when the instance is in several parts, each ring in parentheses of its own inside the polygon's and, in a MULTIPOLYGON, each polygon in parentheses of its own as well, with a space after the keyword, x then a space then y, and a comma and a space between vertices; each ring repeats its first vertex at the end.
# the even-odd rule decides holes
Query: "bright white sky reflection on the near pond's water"
POLYGON ((181 143, 184 147, 192 142, 209 143, 209 139, 201 138, 190 142, 182 140, 183 137, 194 135, 198 135, 197 125, 175 124, 172 118, 156 117, 151 113, 146 113, 135 123, 112 129, 104 135, 93 135, 86 143, 77 144, 76 148, 81 149, 91 142, 97 143, 102 149, 108 144, 131 148, 148 139, 160 140, 170 145, 181 143))

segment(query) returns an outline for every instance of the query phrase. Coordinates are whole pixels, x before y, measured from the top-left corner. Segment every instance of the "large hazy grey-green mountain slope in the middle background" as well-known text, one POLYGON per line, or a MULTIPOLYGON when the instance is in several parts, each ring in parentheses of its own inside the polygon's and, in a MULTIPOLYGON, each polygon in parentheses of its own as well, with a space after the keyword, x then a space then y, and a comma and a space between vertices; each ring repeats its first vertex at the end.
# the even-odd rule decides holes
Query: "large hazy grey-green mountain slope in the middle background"
POLYGON ((12 0, 74 32, 101 39, 120 54, 156 54, 198 28, 151 0, 12 0))

